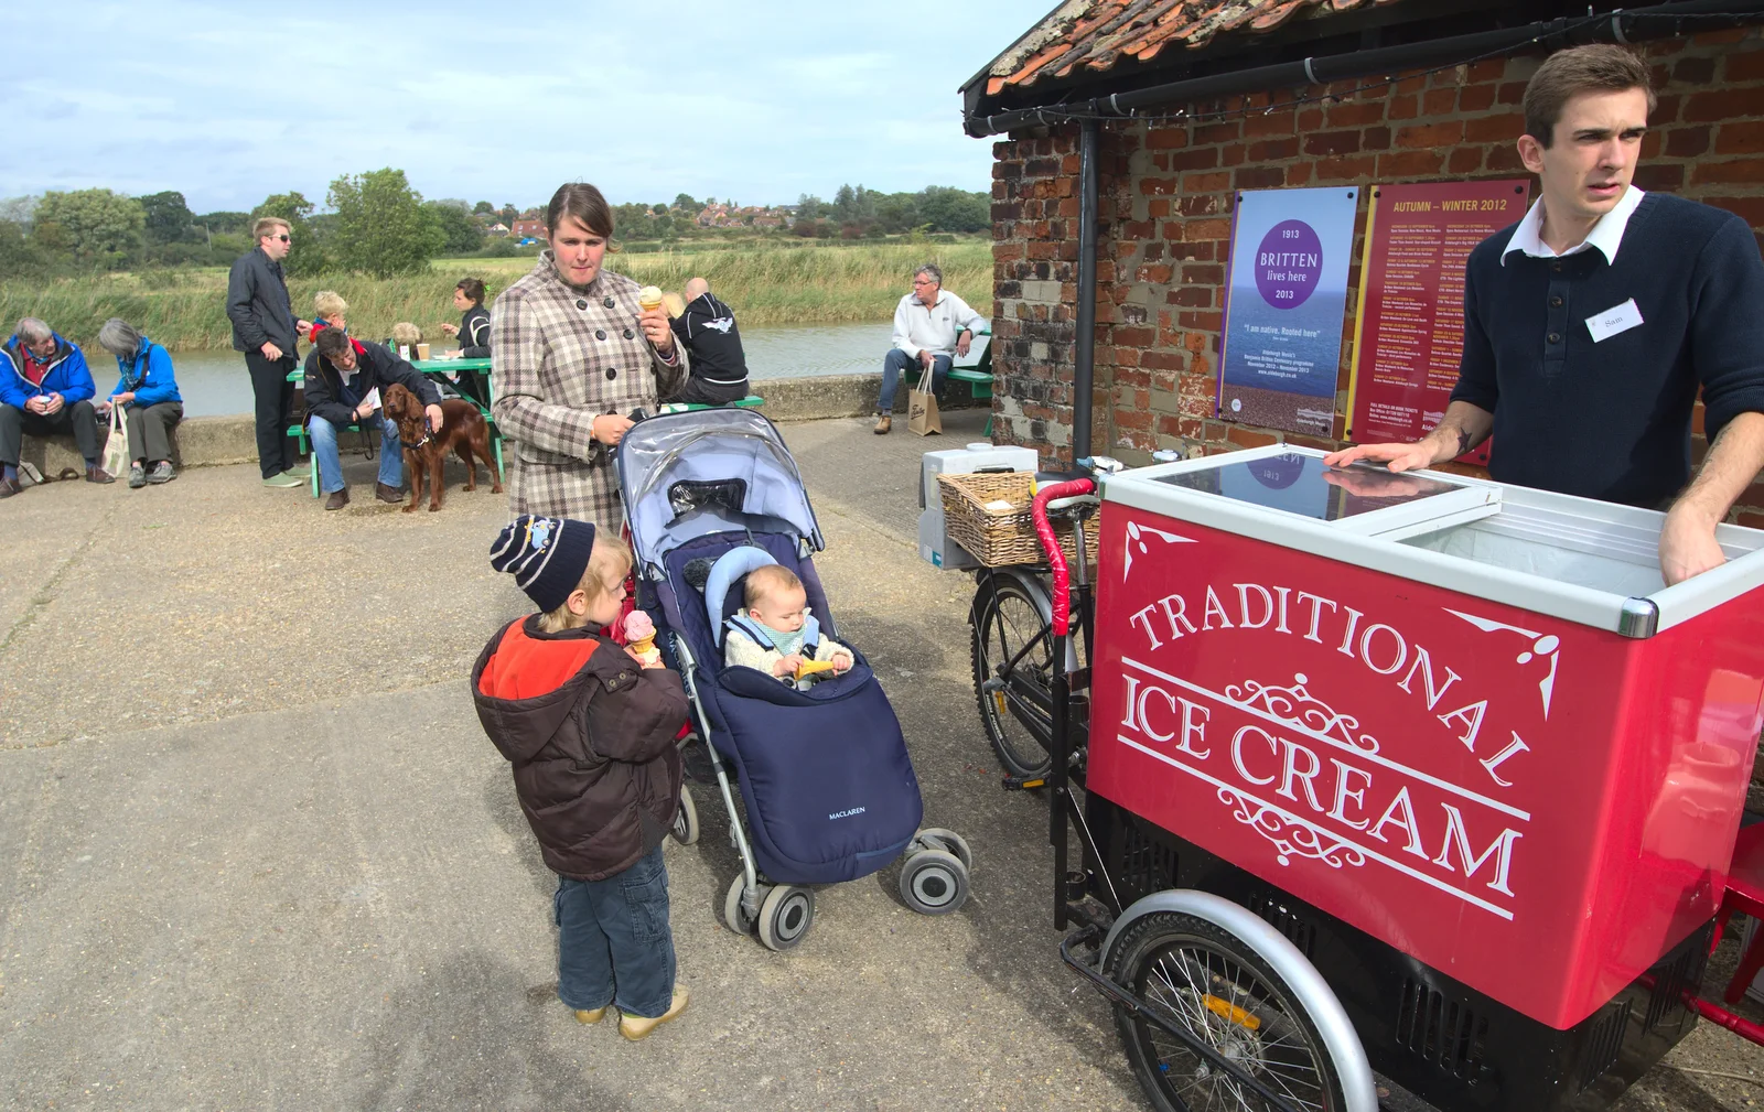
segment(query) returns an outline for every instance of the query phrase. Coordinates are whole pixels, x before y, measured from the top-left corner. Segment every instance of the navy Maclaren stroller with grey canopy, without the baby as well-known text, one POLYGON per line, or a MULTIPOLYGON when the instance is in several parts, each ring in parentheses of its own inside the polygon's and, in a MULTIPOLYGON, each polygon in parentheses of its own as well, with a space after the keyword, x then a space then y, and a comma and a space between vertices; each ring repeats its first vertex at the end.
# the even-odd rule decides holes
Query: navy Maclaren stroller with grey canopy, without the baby
MULTIPOLYGON (((778 428, 744 409, 639 421, 619 442, 619 486, 637 575, 660 603, 658 626, 709 742, 741 853, 723 899, 729 929, 757 932, 773 950, 796 946, 815 918, 808 885, 857 879, 903 853, 901 899, 924 915, 958 909, 972 853, 951 830, 919 830, 919 781, 863 650, 852 647, 847 671, 801 687, 723 666, 725 622, 760 564, 794 571, 822 634, 838 638, 811 559, 824 548, 820 527, 778 428)), ((676 837, 695 841, 690 793, 679 807, 676 837)))

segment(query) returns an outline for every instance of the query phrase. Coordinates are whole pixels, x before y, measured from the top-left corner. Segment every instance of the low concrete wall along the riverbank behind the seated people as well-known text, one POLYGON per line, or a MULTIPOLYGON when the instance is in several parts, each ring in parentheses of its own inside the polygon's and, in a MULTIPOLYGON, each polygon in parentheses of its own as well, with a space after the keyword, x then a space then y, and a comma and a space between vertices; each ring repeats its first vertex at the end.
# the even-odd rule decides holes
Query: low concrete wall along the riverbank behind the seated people
MULTIPOLYGON (((875 412, 882 375, 826 375, 817 379, 773 379, 757 382, 766 398, 760 411, 773 421, 822 421, 827 418, 863 418, 875 412)), ((942 409, 972 409, 990 405, 974 398, 965 382, 949 382, 937 397, 942 409)), ((907 412, 907 388, 894 397, 894 412, 907 412)), ((102 435, 102 428, 99 430, 102 435)), ((252 463, 258 460, 256 423, 249 414, 231 418, 185 418, 173 434, 173 460, 178 467, 213 467, 220 463, 252 463)), ((25 437, 23 458, 35 463, 42 474, 56 476, 64 467, 85 467, 72 437, 48 441, 25 437)))

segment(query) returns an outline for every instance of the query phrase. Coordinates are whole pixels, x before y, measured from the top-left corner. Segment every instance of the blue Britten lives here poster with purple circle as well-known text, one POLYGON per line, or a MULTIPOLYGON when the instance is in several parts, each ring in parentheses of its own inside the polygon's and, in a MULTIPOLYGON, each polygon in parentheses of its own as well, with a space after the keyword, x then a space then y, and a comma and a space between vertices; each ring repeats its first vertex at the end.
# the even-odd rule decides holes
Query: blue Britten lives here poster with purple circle
POLYGON ((1219 356, 1222 419, 1334 432, 1358 206, 1360 190, 1349 187, 1237 196, 1219 356))

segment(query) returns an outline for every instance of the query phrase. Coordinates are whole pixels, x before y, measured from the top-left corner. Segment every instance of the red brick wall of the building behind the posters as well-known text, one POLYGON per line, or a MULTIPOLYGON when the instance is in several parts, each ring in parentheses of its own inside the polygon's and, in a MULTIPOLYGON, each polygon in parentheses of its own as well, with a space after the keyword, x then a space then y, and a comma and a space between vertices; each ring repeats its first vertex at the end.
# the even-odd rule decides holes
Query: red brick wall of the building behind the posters
MULTIPOLYGON (((1764 229, 1764 30, 1716 32, 1642 48, 1660 107, 1635 183, 1732 210, 1764 229)), ((1200 123, 1110 122, 1099 143, 1099 264, 1092 448, 1145 462, 1155 448, 1226 451, 1321 441, 1214 416, 1233 190, 1528 176, 1515 139, 1538 56, 1408 74, 1390 88, 1327 90, 1327 102, 1272 90, 1200 123)), ((995 437, 1071 456, 1078 294, 1078 127, 1013 132, 995 145, 995 437)), ((1531 187, 1536 196, 1536 182, 1531 187)), ((1353 356, 1365 201, 1355 227, 1342 321, 1335 434, 1353 356)), ((1760 307, 1764 310, 1764 307, 1760 307)), ((1700 458, 1702 407, 1695 453, 1700 458)), ((1736 506, 1764 527, 1764 483, 1736 506)))

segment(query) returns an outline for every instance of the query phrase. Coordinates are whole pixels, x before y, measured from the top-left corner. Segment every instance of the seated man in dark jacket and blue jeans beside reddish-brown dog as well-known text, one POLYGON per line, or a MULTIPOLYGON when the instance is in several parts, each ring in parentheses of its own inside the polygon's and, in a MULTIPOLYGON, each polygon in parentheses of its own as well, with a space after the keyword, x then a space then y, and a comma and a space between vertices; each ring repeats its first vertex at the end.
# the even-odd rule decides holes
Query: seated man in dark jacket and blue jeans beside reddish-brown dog
POLYGON ((379 425, 379 481, 374 485, 374 497, 399 502, 404 448, 399 444, 399 423, 381 412, 381 391, 393 382, 422 398, 429 426, 441 428, 441 393, 434 382, 385 345, 355 340, 340 328, 326 328, 312 342, 305 382, 310 414, 307 432, 312 435, 312 458, 319 465, 319 488, 330 493, 325 509, 349 504, 349 486, 342 481, 342 462, 337 456, 337 434, 356 423, 367 428, 369 421, 379 425))

